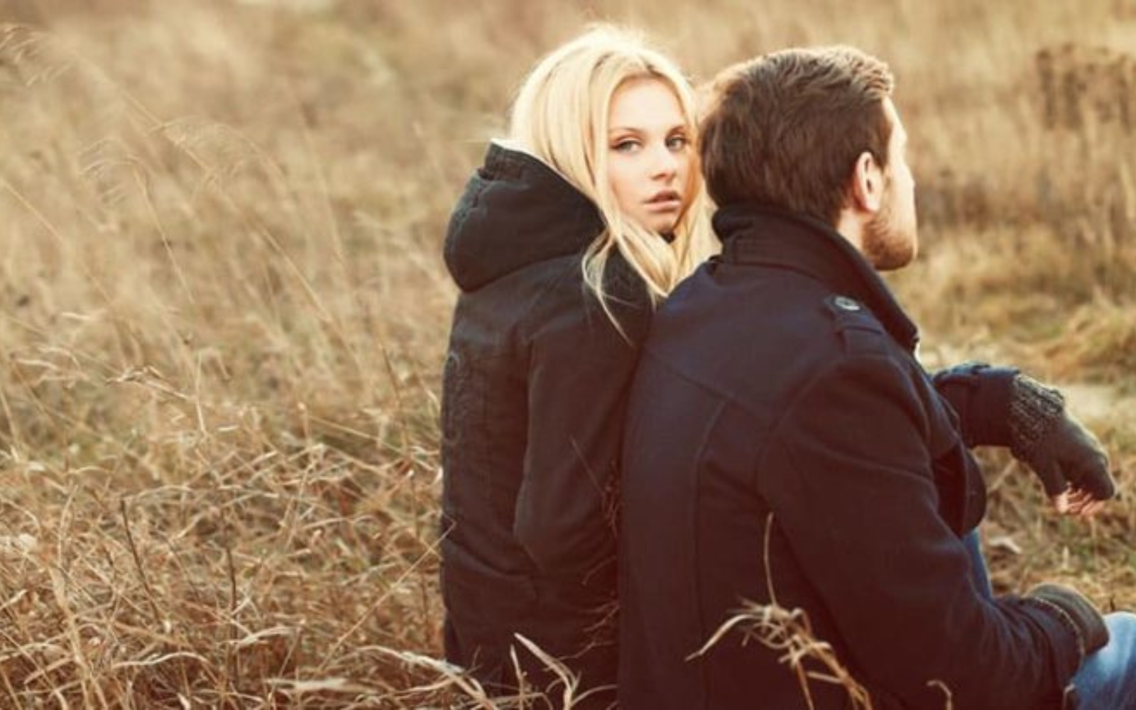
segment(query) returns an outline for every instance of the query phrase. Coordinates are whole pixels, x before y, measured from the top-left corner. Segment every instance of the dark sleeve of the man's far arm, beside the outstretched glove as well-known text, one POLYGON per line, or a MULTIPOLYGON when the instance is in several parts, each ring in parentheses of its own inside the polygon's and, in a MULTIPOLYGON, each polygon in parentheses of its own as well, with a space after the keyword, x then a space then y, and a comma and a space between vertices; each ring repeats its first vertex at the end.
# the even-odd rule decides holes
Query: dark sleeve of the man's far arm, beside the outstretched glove
POLYGON ((968 448, 1010 445, 1010 399, 1017 368, 963 362, 935 373, 935 390, 959 416, 968 448))

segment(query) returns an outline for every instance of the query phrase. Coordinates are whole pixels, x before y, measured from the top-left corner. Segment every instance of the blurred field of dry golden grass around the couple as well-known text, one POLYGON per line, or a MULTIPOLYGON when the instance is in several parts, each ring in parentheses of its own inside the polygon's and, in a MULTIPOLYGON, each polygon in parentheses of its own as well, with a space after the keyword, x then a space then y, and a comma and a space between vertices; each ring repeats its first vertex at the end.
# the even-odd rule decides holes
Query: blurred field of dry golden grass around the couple
POLYGON ((1121 487, 1058 519, 984 454, 995 584, 1136 608, 1130 2, 0 0, 0 708, 476 698, 434 660, 441 241, 525 69, 598 19, 696 82, 889 61, 925 360, 1060 383, 1121 487))

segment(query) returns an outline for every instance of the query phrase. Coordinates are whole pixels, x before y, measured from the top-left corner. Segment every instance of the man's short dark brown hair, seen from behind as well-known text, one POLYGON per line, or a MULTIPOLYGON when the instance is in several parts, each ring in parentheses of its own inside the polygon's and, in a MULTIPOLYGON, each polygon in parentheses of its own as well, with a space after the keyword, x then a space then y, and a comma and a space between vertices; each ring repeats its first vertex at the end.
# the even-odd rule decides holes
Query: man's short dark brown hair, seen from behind
POLYGON ((893 85, 886 64, 851 47, 787 49, 725 69, 700 139, 710 197, 834 224, 860 154, 886 167, 893 85))

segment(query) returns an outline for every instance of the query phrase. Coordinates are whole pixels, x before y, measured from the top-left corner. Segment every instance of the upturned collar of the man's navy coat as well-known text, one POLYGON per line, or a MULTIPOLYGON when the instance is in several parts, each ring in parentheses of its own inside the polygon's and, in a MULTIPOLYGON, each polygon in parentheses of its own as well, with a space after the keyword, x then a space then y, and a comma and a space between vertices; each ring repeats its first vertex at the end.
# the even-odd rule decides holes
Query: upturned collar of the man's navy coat
POLYGON ((868 307, 888 334, 909 351, 919 329, 891 289, 845 237, 819 219, 753 204, 719 209, 715 232, 721 260, 791 269, 868 307))

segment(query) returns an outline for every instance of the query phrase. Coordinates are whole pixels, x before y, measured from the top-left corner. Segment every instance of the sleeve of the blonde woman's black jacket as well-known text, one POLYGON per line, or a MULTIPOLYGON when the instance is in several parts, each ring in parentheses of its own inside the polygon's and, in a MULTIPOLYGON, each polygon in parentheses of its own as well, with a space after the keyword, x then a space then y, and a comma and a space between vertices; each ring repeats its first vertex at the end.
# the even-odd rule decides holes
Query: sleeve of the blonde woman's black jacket
POLYGON ((549 299, 529 340, 528 431, 513 535, 544 573, 615 554, 616 467, 627 390, 650 307, 616 329, 579 282, 549 299))

